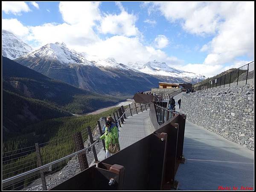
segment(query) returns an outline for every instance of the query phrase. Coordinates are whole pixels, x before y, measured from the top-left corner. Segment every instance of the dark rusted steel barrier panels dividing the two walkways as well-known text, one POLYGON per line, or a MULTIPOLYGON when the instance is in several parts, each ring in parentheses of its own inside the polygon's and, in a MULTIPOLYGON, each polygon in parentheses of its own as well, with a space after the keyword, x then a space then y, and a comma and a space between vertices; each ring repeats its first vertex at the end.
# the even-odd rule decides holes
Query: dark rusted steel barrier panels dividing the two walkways
POLYGON ((122 149, 50 190, 168 190, 177 189, 175 175, 184 163, 186 115, 176 113, 162 125, 151 102, 154 133, 122 149))

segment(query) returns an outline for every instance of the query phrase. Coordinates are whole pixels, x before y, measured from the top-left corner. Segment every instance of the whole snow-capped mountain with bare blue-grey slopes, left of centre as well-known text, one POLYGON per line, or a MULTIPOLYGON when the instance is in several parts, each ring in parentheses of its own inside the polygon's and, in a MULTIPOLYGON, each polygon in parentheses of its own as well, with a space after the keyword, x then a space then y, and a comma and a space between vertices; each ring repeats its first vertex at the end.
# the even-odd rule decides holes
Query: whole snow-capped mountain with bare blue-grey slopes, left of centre
POLYGON ((70 50, 64 43, 47 44, 15 59, 52 79, 101 94, 133 95, 137 89, 150 90, 159 79, 118 64, 114 58, 102 59, 70 50))

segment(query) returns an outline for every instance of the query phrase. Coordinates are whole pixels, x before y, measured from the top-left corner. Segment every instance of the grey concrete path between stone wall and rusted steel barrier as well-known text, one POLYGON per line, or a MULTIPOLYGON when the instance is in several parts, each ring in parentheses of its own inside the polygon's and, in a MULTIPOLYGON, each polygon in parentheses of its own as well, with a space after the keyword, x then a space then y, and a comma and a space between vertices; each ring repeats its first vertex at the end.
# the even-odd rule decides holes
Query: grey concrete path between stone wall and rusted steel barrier
MULTIPOLYGON (((182 94, 186 93, 175 96, 175 102, 182 94)), ((186 162, 180 164, 175 177, 179 190, 254 189, 254 152, 187 119, 183 154, 186 162)))

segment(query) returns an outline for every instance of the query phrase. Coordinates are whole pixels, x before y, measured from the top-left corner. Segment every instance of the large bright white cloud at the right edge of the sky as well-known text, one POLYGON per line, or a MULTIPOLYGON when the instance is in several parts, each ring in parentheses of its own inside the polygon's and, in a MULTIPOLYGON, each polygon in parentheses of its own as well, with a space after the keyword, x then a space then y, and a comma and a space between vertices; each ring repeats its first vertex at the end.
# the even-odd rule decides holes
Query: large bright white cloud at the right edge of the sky
POLYGON ((209 42, 209 55, 204 64, 224 64, 236 57, 254 57, 254 13, 253 2, 232 5, 233 13, 225 12, 226 20, 219 27, 218 35, 209 42))

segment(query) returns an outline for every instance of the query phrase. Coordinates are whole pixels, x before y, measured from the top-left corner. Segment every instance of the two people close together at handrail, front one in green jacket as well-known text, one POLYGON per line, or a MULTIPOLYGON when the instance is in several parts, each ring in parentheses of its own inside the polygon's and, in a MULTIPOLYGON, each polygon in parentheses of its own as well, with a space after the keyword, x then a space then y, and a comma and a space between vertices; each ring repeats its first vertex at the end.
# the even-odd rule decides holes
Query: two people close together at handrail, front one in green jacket
POLYGON ((108 158, 111 156, 111 154, 120 151, 118 124, 111 116, 107 117, 107 121, 102 128, 102 132, 104 134, 99 137, 99 139, 105 140, 105 158, 108 158), (112 146, 115 148, 114 152, 112 146))

